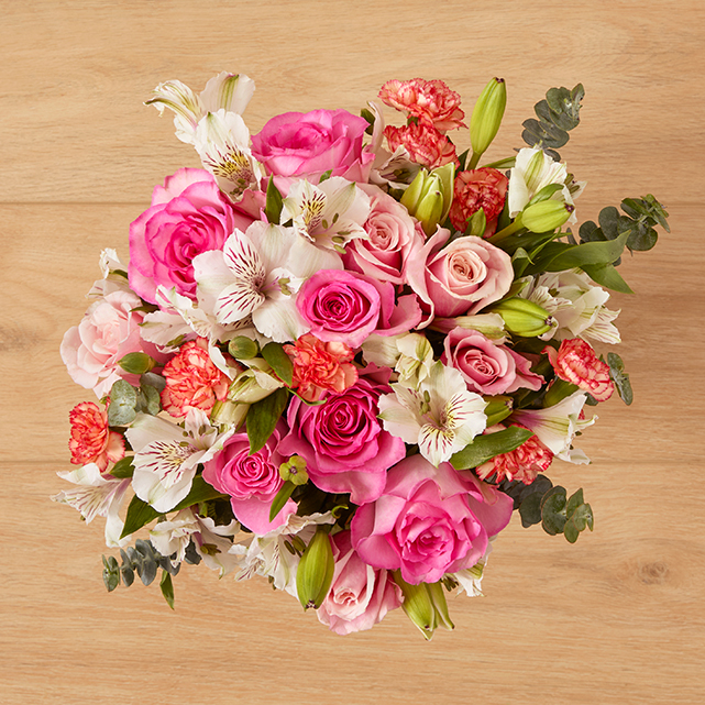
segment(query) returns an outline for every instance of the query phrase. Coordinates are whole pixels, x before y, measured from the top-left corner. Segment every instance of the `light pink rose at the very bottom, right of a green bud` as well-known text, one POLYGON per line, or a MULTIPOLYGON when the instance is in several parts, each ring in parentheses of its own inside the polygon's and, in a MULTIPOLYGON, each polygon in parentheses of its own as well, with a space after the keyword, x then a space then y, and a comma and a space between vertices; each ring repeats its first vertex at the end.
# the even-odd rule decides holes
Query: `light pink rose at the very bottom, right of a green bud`
POLYGON ((372 629, 401 605, 401 591, 385 571, 367 565, 352 548, 350 531, 331 538, 335 571, 318 618, 339 635, 372 629))

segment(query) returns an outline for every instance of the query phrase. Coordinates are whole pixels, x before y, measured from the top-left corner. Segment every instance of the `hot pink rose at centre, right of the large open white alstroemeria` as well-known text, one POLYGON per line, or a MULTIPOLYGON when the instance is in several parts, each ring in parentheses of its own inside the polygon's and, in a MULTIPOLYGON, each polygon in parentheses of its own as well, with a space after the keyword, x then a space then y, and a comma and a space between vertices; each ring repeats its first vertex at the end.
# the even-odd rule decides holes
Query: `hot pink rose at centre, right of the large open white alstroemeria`
POLYGON ((421 320, 412 294, 395 304, 394 286, 364 274, 322 269, 306 280, 296 298, 311 333, 324 341, 359 348, 372 333, 396 335, 421 320))

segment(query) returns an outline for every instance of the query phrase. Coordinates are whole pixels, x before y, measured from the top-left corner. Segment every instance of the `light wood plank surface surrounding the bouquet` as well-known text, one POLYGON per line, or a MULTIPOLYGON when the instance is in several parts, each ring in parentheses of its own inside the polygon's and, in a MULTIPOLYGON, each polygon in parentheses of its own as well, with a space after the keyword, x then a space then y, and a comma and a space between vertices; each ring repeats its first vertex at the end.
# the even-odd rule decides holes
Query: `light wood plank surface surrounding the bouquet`
MULTIPOLYGON (((0 1, 0 703, 705 702, 701 0, 0 1), (582 81, 561 150, 588 181, 581 221, 653 192, 672 233, 623 274, 619 348, 636 400, 581 439, 595 531, 575 546, 518 520, 496 541, 486 597, 451 601, 430 643, 401 610, 337 637, 264 581, 176 579, 108 594, 99 521, 51 503, 68 411, 91 394, 58 346, 84 313, 98 254, 196 153, 142 106, 157 82, 220 70, 257 90, 252 132, 279 113, 357 112, 389 78, 442 78, 470 111, 493 76, 509 102, 492 158, 551 86, 582 81)), ((467 144, 460 136, 461 147, 467 144)), ((489 156, 489 155, 488 155, 489 156)), ((516 518, 515 518, 516 519, 516 518)))

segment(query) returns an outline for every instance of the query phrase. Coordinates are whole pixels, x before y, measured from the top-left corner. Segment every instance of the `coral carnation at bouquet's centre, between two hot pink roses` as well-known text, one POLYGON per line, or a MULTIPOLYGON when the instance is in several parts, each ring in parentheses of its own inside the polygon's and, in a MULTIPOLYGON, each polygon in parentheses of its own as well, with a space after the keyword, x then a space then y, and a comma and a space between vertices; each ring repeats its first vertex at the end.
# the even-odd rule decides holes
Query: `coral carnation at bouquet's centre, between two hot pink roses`
POLYGON ((323 342, 307 333, 294 345, 284 345, 294 364, 293 387, 307 401, 318 401, 327 392, 341 393, 357 382, 355 356, 345 343, 323 342))

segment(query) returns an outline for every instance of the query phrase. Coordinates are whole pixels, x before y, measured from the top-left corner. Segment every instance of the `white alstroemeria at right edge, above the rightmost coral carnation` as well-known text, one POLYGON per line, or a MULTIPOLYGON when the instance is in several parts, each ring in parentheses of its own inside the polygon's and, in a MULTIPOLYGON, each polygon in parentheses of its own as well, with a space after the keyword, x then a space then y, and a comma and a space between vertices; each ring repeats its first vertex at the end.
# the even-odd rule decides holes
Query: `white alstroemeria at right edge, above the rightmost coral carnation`
POLYGON ((580 269, 541 274, 519 296, 542 306, 558 321, 541 340, 555 335, 558 340, 579 337, 613 345, 620 342, 612 322, 619 311, 605 308, 609 294, 580 269))

